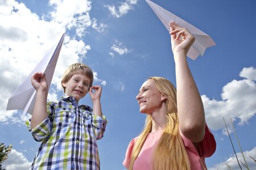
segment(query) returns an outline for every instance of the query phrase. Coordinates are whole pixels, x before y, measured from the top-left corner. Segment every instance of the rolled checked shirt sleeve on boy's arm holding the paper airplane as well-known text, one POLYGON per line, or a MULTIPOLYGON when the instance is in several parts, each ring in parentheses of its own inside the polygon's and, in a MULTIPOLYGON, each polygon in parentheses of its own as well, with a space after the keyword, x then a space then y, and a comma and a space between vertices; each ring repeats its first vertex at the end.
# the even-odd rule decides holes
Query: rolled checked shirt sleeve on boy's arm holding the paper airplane
POLYGON ((38 126, 31 129, 31 119, 26 121, 26 126, 28 128, 28 131, 31 132, 32 137, 35 139, 35 141, 43 141, 43 139, 47 138, 49 133, 51 133, 52 130, 52 124, 53 124, 53 114, 55 112, 54 105, 51 101, 47 101, 47 113, 48 117, 41 122, 38 126))

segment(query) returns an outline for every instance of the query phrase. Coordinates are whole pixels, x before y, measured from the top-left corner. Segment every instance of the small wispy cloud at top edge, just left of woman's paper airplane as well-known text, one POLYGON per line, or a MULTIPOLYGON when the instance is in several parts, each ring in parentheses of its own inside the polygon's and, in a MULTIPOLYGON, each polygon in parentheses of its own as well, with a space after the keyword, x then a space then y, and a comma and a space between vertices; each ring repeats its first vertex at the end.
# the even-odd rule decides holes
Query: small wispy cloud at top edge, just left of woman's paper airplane
POLYGON ((137 4, 137 0, 126 0, 125 2, 122 2, 120 6, 118 6, 116 9, 114 5, 105 5, 110 11, 110 13, 116 17, 119 18, 125 14, 127 14, 130 10, 133 9, 133 5, 137 4))

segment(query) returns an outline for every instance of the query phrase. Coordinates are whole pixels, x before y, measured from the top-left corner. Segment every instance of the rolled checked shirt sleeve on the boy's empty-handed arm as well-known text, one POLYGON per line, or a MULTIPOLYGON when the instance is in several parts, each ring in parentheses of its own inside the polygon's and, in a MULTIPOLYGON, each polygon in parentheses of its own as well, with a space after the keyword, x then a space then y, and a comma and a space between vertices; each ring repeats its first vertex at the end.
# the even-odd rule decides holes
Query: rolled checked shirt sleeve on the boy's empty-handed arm
POLYGON ((94 126, 94 134, 96 139, 101 139, 104 135, 106 124, 108 120, 102 115, 102 117, 92 114, 92 125, 94 126))

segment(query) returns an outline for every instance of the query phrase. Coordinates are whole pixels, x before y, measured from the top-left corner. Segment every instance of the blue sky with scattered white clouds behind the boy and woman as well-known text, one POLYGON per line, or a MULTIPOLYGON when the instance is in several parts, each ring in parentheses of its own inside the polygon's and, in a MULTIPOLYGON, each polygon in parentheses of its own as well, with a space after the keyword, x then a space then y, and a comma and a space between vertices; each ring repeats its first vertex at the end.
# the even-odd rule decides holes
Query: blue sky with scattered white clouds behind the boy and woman
MULTIPOLYGON (((208 33, 216 46, 189 66, 199 88, 206 120, 217 142, 209 169, 238 167, 242 156, 230 126, 234 122, 250 169, 256 169, 256 2, 253 0, 153 1, 208 33), (228 165, 226 165, 228 164, 228 165)), ((175 82, 170 35, 144 0, 0 0, 0 142, 13 145, 7 169, 28 169, 39 143, 24 126, 21 111, 7 100, 46 52, 66 33, 49 99, 63 95, 60 76, 75 62, 88 64, 100 84, 102 111, 109 120, 98 141, 101 169, 124 169, 127 145, 143 128, 135 96, 149 76, 175 82)), ((89 96, 80 104, 92 105, 89 96)))

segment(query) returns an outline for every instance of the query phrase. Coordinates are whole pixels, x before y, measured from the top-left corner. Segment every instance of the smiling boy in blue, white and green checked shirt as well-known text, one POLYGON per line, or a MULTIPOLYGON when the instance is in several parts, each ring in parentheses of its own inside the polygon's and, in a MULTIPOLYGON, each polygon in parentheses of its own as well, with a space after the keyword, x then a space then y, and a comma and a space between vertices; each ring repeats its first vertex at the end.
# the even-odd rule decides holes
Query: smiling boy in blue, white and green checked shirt
POLYGON ((102 89, 92 86, 90 67, 68 67, 61 79, 65 97, 57 101, 47 101, 46 75, 35 73, 31 83, 36 101, 26 125, 35 141, 42 141, 31 169, 100 169, 96 140, 103 137, 108 121, 101 112, 102 89), (78 105, 88 92, 93 109, 78 105))

